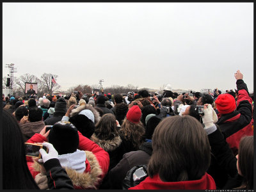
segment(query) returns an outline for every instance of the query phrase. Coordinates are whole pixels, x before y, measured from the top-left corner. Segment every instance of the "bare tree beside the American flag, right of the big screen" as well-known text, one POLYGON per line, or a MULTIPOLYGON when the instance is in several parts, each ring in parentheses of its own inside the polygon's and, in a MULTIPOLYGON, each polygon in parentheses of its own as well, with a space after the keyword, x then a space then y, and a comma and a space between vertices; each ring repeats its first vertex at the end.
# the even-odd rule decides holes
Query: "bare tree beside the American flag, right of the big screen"
POLYGON ((52 77, 55 79, 55 81, 57 80, 57 75, 54 74, 42 74, 41 76, 41 81, 44 84, 44 88, 43 88, 43 92, 45 93, 49 93, 50 95, 52 95, 52 92, 56 92, 58 91, 58 89, 60 89, 60 84, 58 83, 52 83, 52 77))

